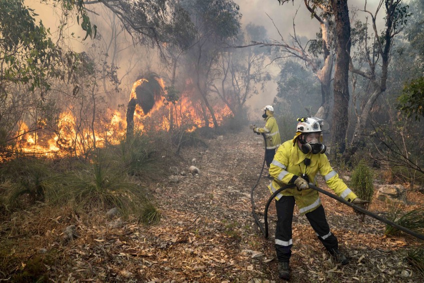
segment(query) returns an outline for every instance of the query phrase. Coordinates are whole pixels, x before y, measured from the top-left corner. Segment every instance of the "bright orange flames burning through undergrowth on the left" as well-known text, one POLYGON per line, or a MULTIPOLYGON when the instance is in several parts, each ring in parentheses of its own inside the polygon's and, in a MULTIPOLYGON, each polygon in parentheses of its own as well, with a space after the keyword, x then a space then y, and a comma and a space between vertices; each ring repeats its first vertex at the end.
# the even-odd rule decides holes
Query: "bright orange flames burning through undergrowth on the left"
MULTIPOLYGON (((135 89, 144 82, 147 80, 140 79, 133 84, 130 100, 137 98, 135 89)), ((165 89, 164 81, 158 79, 158 82, 165 89)), ((97 128, 94 134, 90 126, 79 128, 81 125, 70 112, 61 113, 55 130, 41 128, 38 131, 31 131, 25 122, 21 122, 19 130, 16 132, 16 136, 19 136, 17 147, 22 152, 54 156, 57 154, 84 154, 93 148, 94 141, 96 141, 97 147, 118 144, 120 138, 125 135, 126 117, 118 110, 109 109, 108 111, 110 112, 109 118, 102 123, 96 123, 97 128)), ((214 111, 219 124, 225 116, 231 114, 226 105, 214 107, 214 111)), ((184 127, 186 131, 194 131, 196 128, 204 126, 200 102, 193 102, 188 93, 183 93, 175 105, 165 104, 164 99, 161 98, 156 101, 147 115, 144 115, 142 108, 137 105, 134 124, 141 131, 145 129, 168 131, 171 125, 171 115, 174 127, 184 127)), ((210 115, 207 119, 209 125, 213 126, 210 115)))

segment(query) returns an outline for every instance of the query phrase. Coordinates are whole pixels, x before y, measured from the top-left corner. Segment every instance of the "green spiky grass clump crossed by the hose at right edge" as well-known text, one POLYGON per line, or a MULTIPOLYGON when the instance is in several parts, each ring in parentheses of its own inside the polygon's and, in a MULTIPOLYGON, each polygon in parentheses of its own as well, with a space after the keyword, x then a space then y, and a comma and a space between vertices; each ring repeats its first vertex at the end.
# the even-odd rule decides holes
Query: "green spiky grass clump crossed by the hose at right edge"
MULTIPOLYGON (((412 231, 422 232, 424 230, 424 207, 418 207, 403 213, 405 208, 404 204, 387 201, 386 208, 388 220, 412 231)), ((384 235, 393 235, 397 232, 397 228, 386 225, 384 235)))

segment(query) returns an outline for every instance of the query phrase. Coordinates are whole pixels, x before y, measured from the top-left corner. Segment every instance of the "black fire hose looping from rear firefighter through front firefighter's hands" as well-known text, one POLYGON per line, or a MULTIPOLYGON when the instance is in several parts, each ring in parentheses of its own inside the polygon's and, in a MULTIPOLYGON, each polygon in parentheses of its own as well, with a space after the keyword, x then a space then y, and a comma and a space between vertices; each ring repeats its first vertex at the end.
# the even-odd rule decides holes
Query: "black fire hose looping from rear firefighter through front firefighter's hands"
MULTIPOLYGON (((264 142, 265 142, 265 144, 266 144, 266 140, 265 140, 265 135, 264 134, 262 134, 262 136, 263 136, 263 138, 264 138, 264 142)), ((266 152, 266 151, 265 151, 266 152)), ((262 234, 265 236, 265 238, 268 238, 268 207, 269 207, 269 205, 271 204, 271 201, 275 198, 275 196, 276 195, 278 195, 280 192, 282 192, 283 190, 285 190, 285 189, 288 189, 288 188, 291 188, 291 187, 294 187, 295 185, 294 184, 289 184, 289 185, 286 185, 286 186, 283 186, 283 187, 281 187, 281 188, 279 188, 278 190, 276 190, 270 197, 269 197, 269 199, 268 199, 268 201, 267 201, 267 203, 266 203, 266 205, 265 205, 265 211, 264 211, 264 224, 265 224, 265 227, 263 227, 262 226, 262 223, 261 223, 261 221, 259 220, 259 217, 256 215, 256 213, 255 213, 255 203, 254 203, 254 200, 253 200, 253 191, 254 191, 254 189, 256 188, 256 186, 258 185, 258 183, 259 183, 259 180, 260 180, 260 178, 261 178, 261 176, 262 176, 262 172, 263 172, 263 168, 264 168, 264 165, 265 165, 265 157, 266 157, 266 153, 265 153, 265 156, 264 156, 264 160, 263 160, 263 164, 262 164, 262 170, 261 170, 261 173, 259 174, 259 178, 258 178, 258 180, 256 181, 256 184, 252 187, 252 189, 250 190, 250 200, 251 200, 251 203, 252 203, 252 214, 253 214, 253 218, 255 218, 255 222, 256 222, 256 224, 258 225, 258 227, 259 227, 259 229, 261 230, 261 232, 262 232, 262 234)), ((325 195, 327 195, 327 196, 329 196, 329 197, 331 197, 331 198, 333 198, 333 199, 335 199, 335 200, 337 200, 337 201, 339 201, 339 202, 341 202, 341 203, 344 203, 344 204, 346 204, 347 206, 350 206, 350 207, 352 207, 353 209, 355 209, 355 210, 357 210, 357 211, 359 211, 359 212, 361 212, 361 213, 363 213, 363 214, 365 214, 365 215, 368 215, 368 216, 370 216, 370 217, 372 217, 372 218, 374 218, 374 219, 377 219, 378 221, 380 221, 380 222, 383 222, 383 223, 385 223, 385 224, 387 224, 387 225, 390 225, 390 226, 392 226, 392 227, 394 227, 394 228, 396 228, 396 229, 398 229, 398 230, 400 230, 400 231, 403 231, 403 232, 405 232, 405 233, 407 233, 407 234, 409 234, 409 235, 411 235, 411 236, 414 236, 415 238, 418 238, 418 239, 420 239, 420 240, 424 240, 424 235, 422 235, 422 234, 419 234, 419 233, 417 233, 417 232, 414 232, 414 231, 412 231, 412 230, 410 230, 410 229, 408 229, 408 228, 405 228, 405 227, 403 227, 403 226, 400 226, 399 224, 396 224, 396 223, 394 223, 394 222, 392 222, 392 221, 390 221, 390 220, 388 220, 388 219, 386 219, 386 218, 383 218, 383 217, 381 217, 381 216, 378 216, 377 214, 374 214, 374 213, 372 213, 372 212, 370 212, 370 211, 368 211, 368 210, 366 210, 366 209, 364 209, 364 208, 362 208, 362 207, 360 207, 360 206, 357 206, 357 205, 355 205, 355 204, 353 204, 353 203, 351 203, 351 202, 349 202, 349 201, 347 201, 347 200, 345 200, 344 198, 341 198, 341 197, 339 197, 339 196, 337 196, 337 195, 334 195, 334 194, 332 194, 332 193, 330 193, 330 192, 327 192, 326 190, 323 190, 323 189, 321 189, 321 188, 318 188, 317 186, 315 186, 314 184, 312 184, 312 183, 309 183, 309 187, 311 188, 311 189, 314 189, 314 190, 316 190, 316 191, 318 191, 318 192, 320 192, 320 193, 322 193, 322 194, 325 194, 325 195)))

